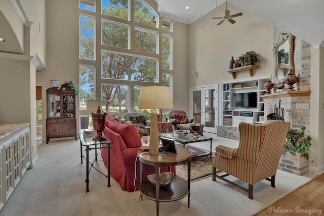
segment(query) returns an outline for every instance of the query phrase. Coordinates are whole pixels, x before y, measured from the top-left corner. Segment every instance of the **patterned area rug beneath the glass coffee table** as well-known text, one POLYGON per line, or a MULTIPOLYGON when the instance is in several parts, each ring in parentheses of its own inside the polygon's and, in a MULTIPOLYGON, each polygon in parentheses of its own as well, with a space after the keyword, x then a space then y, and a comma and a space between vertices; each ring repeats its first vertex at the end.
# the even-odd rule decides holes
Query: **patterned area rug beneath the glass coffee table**
MULTIPOLYGON (((190 181, 203 179, 212 175, 213 165, 210 156, 198 157, 191 160, 190 181)), ((178 177, 187 180, 188 167, 185 165, 176 166, 176 174, 178 177)))

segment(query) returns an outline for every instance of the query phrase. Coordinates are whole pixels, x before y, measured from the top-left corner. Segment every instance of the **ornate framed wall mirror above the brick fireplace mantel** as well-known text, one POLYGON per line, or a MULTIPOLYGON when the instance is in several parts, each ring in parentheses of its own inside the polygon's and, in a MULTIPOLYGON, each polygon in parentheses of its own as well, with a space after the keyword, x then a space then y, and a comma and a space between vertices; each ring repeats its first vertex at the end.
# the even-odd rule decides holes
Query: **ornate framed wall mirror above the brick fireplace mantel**
POLYGON ((273 80, 278 83, 289 70, 295 72, 294 65, 294 39, 289 33, 281 33, 273 47, 274 75, 273 80), (281 72, 278 74, 278 72, 281 72))

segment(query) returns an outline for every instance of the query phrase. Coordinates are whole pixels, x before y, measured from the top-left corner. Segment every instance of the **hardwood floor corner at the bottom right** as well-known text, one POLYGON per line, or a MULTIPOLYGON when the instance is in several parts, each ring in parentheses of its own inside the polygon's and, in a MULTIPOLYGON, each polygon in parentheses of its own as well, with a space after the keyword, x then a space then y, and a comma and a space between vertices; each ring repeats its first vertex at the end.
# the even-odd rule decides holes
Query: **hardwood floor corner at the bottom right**
POLYGON ((324 174, 255 214, 261 215, 324 215, 324 174))

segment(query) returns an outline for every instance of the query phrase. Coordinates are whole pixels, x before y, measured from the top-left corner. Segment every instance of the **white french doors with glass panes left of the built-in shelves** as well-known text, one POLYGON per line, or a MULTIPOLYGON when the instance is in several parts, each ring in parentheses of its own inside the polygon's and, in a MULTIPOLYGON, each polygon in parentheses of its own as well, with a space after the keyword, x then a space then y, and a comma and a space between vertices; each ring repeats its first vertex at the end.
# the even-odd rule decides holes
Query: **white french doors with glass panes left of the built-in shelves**
POLYGON ((204 131, 217 133, 218 85, 190 88, 190 116, 205 125, 204 131))

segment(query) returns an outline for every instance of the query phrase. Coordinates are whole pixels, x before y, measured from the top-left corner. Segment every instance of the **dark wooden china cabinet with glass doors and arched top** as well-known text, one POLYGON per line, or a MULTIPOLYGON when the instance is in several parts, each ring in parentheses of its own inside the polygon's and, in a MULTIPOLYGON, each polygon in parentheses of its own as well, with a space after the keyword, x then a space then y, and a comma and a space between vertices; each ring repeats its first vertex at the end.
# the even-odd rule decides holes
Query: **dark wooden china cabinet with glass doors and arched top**
POLYGON ((75 91, 67 86, 63 89, 46 90, 46 143, 60 137, 75 137, 76 141, 75 91))

